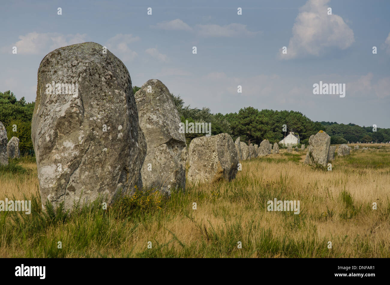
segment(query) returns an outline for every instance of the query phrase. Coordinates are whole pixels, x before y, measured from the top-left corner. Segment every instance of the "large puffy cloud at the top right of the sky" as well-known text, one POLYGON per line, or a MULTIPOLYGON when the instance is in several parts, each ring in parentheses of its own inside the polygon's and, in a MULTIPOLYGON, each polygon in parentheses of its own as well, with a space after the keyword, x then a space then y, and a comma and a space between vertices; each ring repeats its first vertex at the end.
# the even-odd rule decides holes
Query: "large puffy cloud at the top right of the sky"
POLYGON ((289 40, 287 54, 281 59, 298 56, 319 56, 328 48, 346 49, 355 42, 353 31, 344 20, 335 14, 328 15, 329 0, 308 0, 300 8, 289 40))

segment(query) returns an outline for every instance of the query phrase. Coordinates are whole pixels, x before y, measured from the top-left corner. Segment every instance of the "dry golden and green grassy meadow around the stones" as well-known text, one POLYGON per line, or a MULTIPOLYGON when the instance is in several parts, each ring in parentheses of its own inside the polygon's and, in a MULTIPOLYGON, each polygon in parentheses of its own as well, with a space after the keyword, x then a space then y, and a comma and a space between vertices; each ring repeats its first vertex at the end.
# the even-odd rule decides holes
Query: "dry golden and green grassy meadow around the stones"
POLYGON ((32 212, 0 212, 0 257, 390 257, 390 146, 359 145, 332 171, 281 150, 241 162, 230 182, 170 199, 138 191, 70 215, 42 210, 35 161, 21 158, 0 167, 0 200, 31 200, 32 212), (274 198, 299 200, 299 215, 267 211, 274 198))

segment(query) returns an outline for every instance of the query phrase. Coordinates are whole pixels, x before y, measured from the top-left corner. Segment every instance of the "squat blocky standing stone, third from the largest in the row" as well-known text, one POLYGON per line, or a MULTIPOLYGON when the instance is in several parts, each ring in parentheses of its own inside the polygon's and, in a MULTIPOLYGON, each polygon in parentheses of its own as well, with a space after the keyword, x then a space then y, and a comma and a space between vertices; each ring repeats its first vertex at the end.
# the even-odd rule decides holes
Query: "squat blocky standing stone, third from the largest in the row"
POLYGON ((196 137, 188 147, 188 182, 211 183, 236 177, 238 155, 229 134, 196 137))

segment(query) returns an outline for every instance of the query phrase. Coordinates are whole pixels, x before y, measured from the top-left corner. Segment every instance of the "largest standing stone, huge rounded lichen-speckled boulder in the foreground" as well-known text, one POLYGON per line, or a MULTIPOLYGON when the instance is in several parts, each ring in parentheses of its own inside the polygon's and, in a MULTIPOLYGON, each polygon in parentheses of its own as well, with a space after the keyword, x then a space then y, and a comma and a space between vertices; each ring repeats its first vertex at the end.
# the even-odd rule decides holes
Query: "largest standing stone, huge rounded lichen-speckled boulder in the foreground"
POLYGON ((31 138, 43 207, 64 202, 68 210, 99 195, 110 203, 142 188, 146 142, 130 75, 102 50, 94 42, 66 46, 39 66, 31 138))

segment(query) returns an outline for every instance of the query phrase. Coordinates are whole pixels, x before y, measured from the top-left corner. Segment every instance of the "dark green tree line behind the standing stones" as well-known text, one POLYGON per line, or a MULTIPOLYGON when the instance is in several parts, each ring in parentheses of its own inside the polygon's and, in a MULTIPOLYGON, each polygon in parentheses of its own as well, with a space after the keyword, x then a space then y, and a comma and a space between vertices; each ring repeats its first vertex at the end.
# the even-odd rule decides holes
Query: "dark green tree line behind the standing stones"
MULTIPOLYGON (((134 86, 133 92, 140 87, 134 86)), ((259 111, 254 107, 245 107, 238 113, 213 114, 207 107, 192 108, 185 106, 184 100, 171 94, 179 112, 180 120, 186 123, 211 123, 211 135, 228 133, 233 140, 240 137, 245 143, 260 144, 268 139, 272 144, 281 141, 289 131, 299 135, 302 144, 308 144, 310 135, 324 130, 331 137, 332 144, 349 142, 388 142, 390 141, 390 128, 360 127, 353 123, 338 124, 337 122, 312 121, 297 111, 274 111, 263 109, 259 111), (284 128, 284 125, 285 128, 284 128), (285 130, 285 131, 284 131, 285 130)), ((31 141, 31 120, 35 102, 27 103, 25 98, 16 100, 10 90, 0 92, 0 121, 7 130, 8 139, 15 136, 20 140, 19 148, 22 154, 33 150, 31 141), (16 126, 16 128, 15 128, 16 126)), ((202 133, 186 133, 186 142, 189 144, 202 133)))

